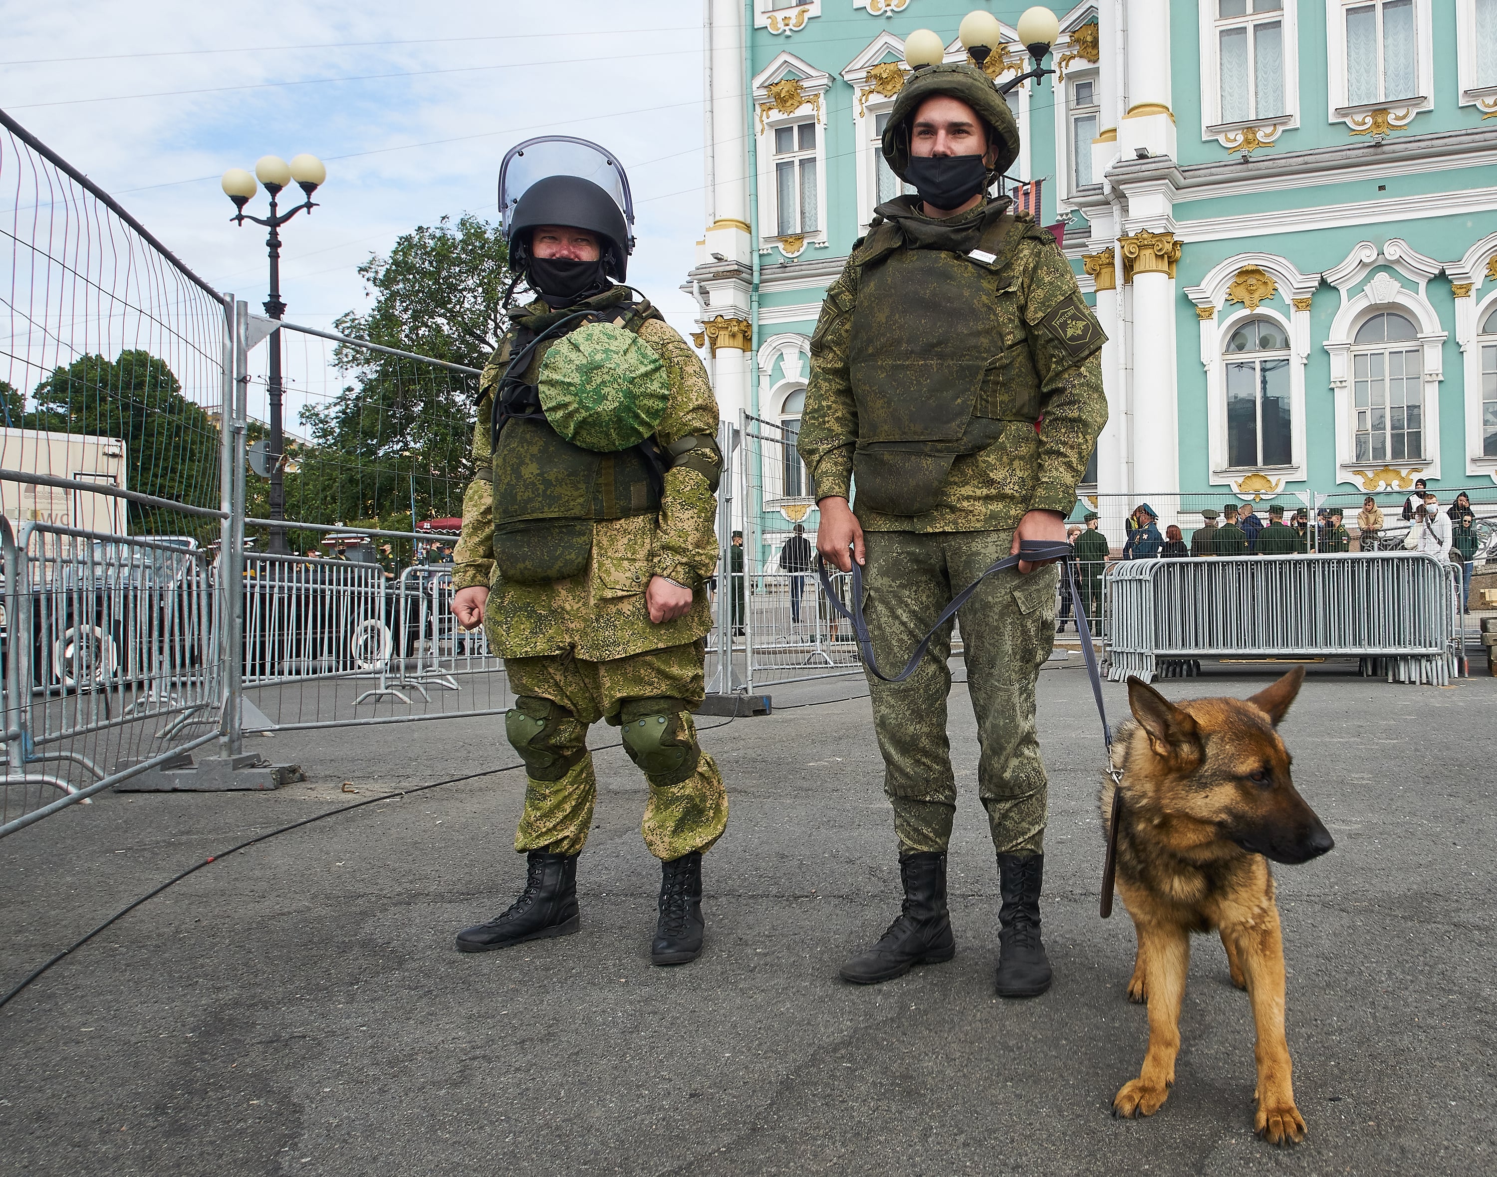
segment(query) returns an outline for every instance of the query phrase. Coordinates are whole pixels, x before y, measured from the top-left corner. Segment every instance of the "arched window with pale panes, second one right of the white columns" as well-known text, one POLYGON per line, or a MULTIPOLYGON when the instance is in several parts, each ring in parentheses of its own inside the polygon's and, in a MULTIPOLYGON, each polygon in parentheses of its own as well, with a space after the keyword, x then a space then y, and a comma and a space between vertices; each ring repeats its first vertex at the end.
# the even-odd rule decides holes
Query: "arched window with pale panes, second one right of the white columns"
POLYGON ((1358 462, 1424 458, 1424 369, 1413 323, 1383 311, 1352 341, 1352 408, 1358 462))

